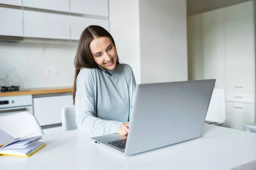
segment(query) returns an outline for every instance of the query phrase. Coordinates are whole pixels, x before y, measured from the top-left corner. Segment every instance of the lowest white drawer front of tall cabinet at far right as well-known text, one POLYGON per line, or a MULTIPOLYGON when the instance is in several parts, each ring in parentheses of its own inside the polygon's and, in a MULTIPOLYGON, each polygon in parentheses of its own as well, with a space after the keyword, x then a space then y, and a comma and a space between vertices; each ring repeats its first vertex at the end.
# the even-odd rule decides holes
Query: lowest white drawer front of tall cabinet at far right
POLYGON ((244 130, 245 125, 255 121, 254 104, 226 102, 226 121, 224 127, 244 130))

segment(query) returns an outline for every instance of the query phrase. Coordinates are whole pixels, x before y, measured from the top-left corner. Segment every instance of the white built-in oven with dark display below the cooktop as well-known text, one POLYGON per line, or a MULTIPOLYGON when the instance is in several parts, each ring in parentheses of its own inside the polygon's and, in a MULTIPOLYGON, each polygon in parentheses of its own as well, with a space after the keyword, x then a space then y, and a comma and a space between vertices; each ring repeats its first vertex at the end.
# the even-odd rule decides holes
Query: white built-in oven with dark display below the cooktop
POLYGON ((0 97, 0 116, 19 112, 33 113, 32 95, 17 95, 0 97))

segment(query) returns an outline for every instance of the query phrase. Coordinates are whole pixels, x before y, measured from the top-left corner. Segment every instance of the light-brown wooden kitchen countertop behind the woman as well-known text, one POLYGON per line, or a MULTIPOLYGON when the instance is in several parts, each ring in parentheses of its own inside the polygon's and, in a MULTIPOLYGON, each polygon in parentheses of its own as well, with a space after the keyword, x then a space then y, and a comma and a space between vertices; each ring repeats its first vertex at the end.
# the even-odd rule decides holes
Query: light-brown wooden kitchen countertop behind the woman
POLYGON ((72 87, 52 87, 52 88, 38 88, 38 89, 20 89, 15 92, 0 92, 0 97, 15 96, 15 95, 43 95, 52 93, 72 92, 72 87), (24 90, 24 91, 22 91, 24 90))

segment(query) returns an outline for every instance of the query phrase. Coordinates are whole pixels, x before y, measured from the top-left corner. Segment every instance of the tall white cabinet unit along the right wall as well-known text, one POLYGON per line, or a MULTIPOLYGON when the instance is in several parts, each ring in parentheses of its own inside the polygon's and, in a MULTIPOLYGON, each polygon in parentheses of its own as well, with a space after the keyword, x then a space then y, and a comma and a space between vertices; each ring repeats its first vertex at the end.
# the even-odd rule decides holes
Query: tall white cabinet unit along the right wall
POLYGON ((239 130, 255 121, 254 3, 188 17, 190 80, 216 78, 225 89, 224 126, 239 130))

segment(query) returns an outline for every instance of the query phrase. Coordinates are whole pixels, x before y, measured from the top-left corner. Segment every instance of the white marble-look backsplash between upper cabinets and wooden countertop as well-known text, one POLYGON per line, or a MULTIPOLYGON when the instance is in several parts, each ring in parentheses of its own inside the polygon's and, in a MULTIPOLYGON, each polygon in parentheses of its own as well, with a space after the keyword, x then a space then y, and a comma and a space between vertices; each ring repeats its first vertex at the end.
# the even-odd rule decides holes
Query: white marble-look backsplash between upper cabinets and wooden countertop
POLYGON ((73 86, 76 45, 0 43, 0 86, 73 86), (58 75, 47 75, 57 69, 58 75))

